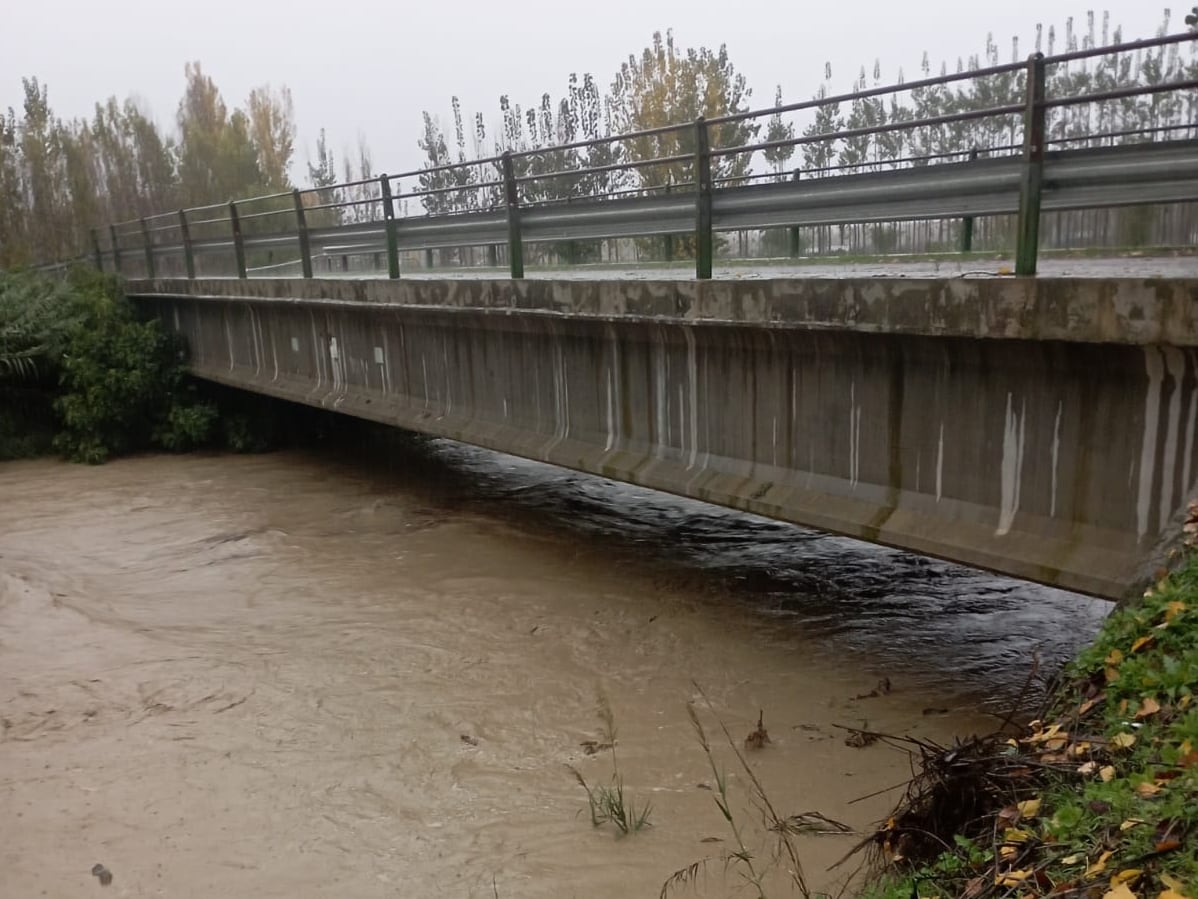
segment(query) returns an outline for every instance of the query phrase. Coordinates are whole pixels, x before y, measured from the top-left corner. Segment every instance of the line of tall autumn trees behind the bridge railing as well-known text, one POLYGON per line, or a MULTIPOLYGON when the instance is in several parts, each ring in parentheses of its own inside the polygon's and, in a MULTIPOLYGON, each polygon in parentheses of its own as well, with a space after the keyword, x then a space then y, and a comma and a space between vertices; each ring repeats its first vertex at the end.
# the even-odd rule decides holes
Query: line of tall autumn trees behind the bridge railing
MULTIPOLYGON (((1167 34, 1169 24, 1166 14, 1160 32, 1167 34)), ((1121 37, 1109 13, 1099 24, 1090 12, 1084 28, 1075 28, 1072 19, 1061 32, 1037 25, 1033 49, 1052 55, 1117 43, 1121 37)), ((1192 43, 1170 44, 1057 65, 1048 72, 1047 90, 1049 96, 1071 96, 1198 78, 1194 49, 1192 43)), ((925 53, 918 77, 996 66, 1004 55, 987 37, 981 54, 954 64, 933 66, 925 53)), ((1019 40, 1012 38, 1009 59, 1021 61, 1024 55, 1019 40)), ((0 116, 0 266, 74 255, 87 247, 89 229, 104 223, 294 186, 296 129, 290 91, 265 85, 252 91, 243 105, 230 109, 198 62, 188 64, 184 74, 183 97, 170 131, 159 128, 149 110, 132 99, 110 98, 96 105, 91 119, 63 121, 54 116, 46 85, 36 78, 23 82, 20 114, 8 109, 0 116)), ((1010 152, 1022 139, 1018 114, 853 137, 836 133, 1019 103, 1024 78, 1022 70, 1010 71, 841 104, 823 102, 836 92, 825 66, 810 109, 780 110, 764 121, 738 120, 709 129, 716 149, 785 143, 795 135, 807 143, 715 156, 712 175, 724 185, 795 173, 804 179, 823 177, 964 158, 974 151, 1010 152)), ((903 83, 904 73, 900 71, 895 80, 903 83)), ((875 61, 860 67, 852 89, 882 84, 882 66, 875 61)), ((751 97, 726 47, 683 48, 672 32, 658 32, 648 47, 621 64, 607 84, 591 73, 570 74, 556 98, 544 92, 539 101, 521 105, 504 93, 490 115, 470 114, 454 97, 448 132, 436 115, 425 111, 417 140, 423 171, 406 187, 416 189, 416 205, 430 215, 494 209, 503 201, 498 163, 453 167, 507 151, 537 151, 514 161, 518 177, 539 176, 521 183, 527 203, 688 189, 695 180, 692 127, 622 141, 603 139, 692 122, 698 116, 744 113, 751 97), (668 162, 643 164, 651 159, 668 162), (545 177, 552 173, 562 174, 545 177)), ((775 108, 782 105, 780 88, 774 101, 775 108)), ((1185 137, 1198 137, 1194 91, 1066 107, 1048 116, 1048 138, 1057 147, 1185 137)), ((304 173, 307 185, 316 188, 314 205, 377 198, 371 185, 340 187, 343 181, 373 176, 364 143, 343 164, 340 169, 335 164, 321 131, 314 161, 304 173)), ((409 203, 401 209, 415 211, 409 203)), ((380 216, 377 203, 359 203, 321 210, 317 223, 380 216)))

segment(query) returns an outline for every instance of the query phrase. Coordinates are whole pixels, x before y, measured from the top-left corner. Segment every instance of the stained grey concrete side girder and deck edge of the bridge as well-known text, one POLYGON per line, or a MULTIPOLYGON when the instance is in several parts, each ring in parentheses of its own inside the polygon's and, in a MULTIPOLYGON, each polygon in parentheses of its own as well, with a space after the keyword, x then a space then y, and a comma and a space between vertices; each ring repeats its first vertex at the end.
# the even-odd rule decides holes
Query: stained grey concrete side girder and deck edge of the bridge
POLYGON ((1198 278, 128 290, 200 378, 1112 599, 1196 494, 1198 278))

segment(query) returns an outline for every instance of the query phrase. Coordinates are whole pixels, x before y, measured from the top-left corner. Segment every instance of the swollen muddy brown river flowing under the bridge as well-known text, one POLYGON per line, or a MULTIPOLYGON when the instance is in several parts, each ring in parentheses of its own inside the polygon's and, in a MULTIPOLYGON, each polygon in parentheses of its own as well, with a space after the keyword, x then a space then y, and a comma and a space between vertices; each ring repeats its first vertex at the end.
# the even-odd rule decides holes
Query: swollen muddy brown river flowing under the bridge
MULTIPOLYGON (((655 897, 704 857, 677 894, 739 894, 688 702, 769 868, 718 722, 763 710, 780 814, 864 829, 908 759, 836 725, 992 728, 1106 611, 442 441, 4 464, 0 895, 655 897), (623 838, 567 767, 610 777, 599 690, 623 838)), ((815 889, 858 839, 795 838, 815 889)))

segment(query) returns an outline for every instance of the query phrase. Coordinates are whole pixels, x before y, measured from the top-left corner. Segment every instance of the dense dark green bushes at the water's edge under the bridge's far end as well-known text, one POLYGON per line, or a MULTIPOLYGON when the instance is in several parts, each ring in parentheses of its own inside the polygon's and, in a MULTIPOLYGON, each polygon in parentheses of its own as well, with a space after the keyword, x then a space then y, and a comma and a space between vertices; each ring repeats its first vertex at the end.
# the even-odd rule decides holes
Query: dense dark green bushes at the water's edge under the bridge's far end
POLYGON ((52 448, 86 463, 149 448, 260 452, 298 423, 266 398, 193 382, 183 350, 138 315, 115 278, 0 273, 0 459, 52 448))

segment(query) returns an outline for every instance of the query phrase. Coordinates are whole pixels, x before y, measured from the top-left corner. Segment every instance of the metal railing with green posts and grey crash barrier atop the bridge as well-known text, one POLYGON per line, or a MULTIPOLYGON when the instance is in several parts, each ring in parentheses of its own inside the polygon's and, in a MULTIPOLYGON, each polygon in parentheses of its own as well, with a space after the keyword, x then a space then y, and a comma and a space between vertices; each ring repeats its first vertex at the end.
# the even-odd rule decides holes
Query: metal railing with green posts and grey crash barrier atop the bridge
MULTIPOLYGON (((145 274, 151 278, 161 264, 171 261, 176 270, 184 271, 188 278, 195 278, 198 259, 216 254, 228 257, 231 253, 237 274, 244 278, 248 274, 248 254, 283 249, 298 255, 303 276, 310 278, 314 258, 335 253, 374 253, 380 257, 386 254, 388 274, 398 278, 403 251, 506 246, 510 274, 520 278, 524 277, 526 242, 691 235, 696 257, 695 274, 697 278, 709 278, 714 255, 713 235, 719 231, 789 228, 797 237, 793 229, 803 225, 962 218, 967 223, 963 229, 963 249, 968 249, 972 235, 969 225, 974 216, 1017 215, 1016 273, 1034 274, 1042 211, 1198 200, 1198 140, 1173 139, 1060 150, 1049 150, 1046 141, 1046 117, 1052 109, 1167 91, 1192 91, 1198 89, 1198 80, 1046 97, 1046 70, 1072 60, 1163 47, 1194 38, 1198 38, 1198 34, 1169 35, 1049 58, 1035 54, 1025 64, 958 72, 599 140, 507 152, 327 188, 296 189, 179 210, 109 225, 107 248, 102 246, 101 233, 93 229, 91 258, 102 270, 121 272, 126 269, 128 258, 141 257, 145 274), (787 140, 714 149, 709 145, 713 134, 719 133, 719 126, 731 122, 1010 73, 1023 74, 1024 90, 1019 103, 869 128, 805 134, 787 140), (904 167, 889 171, 828 177, 811 177, 810 171, 795 171, 792 180, 773 183, 754 183, 760 180, 758 175, 742 175, 724 183, 715 183, 712 179, 712 163, 719 157, 751 156, 772 147, 877 138, 896 131, 956 126, 986 119, 1012 122, 1015 117, 1022 119, 1022 140, 987 150, 990 158, 976 158, 976 151, 970 155, 974 158, 967 159, 960 159, 960 155, 952 153, 912 157, 894 161, 891 164, 904 163, 904 167), (569 149, 603 144, 627 145, 634 140, 667 134, 686 138, 694 145, 694 152, 518 175, 516 163, 521 161, 551 157, 552 153, 569 149), (667 165, 689 167, 691 180, 667 187, 642 187, 540 203, 527 199, 539 185, 555 179, 574 179, 579 183, 582 179, 598 180, 609 173, 667 165), (473 180, 466 176, 471 171, 478 173, 472 176, 473 180), (398 189, 403 179, 432 174, 446 174, 450 180, 460 179, 465 183, 406 193, 398 189), (337 199, 350 189, 357 191, 358 198, 337 199), (373 195, 361 195, 371 192, 373 195), (397 204, 401 200, 435 198, 454 192, 472 192, 476 201, 483 197, 490 207, 440 216, 397 215, 397 204), (370 221, 326 223, 331 216, 341 217, 346 213, 370 221), (283 224, 276 224, 280 219, 283 224)), ((1143 137, 1149 132, 1162 132, 1170 135, 1178 129, 1188 129, 1193 134, 1198 131, 1198 122, 1146 128, 1135 134, 1143 137)), ((1076 145, 1109 137, 1079 135, 1055 143, 1076 145)), ((255 266, 258 267, 260 266, 255 266)))

